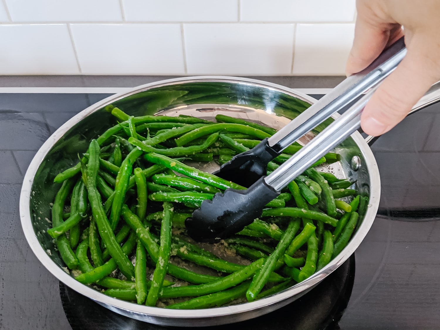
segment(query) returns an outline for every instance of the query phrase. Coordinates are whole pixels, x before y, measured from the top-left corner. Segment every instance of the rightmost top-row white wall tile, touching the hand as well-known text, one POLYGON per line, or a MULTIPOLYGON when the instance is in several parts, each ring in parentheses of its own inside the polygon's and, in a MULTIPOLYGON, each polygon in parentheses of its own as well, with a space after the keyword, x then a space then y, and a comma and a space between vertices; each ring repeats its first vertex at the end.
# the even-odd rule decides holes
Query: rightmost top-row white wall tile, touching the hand
POLYGON ((241 0, 243 22, 352 22, 355 0, 241 0))

